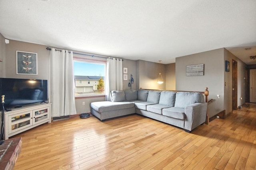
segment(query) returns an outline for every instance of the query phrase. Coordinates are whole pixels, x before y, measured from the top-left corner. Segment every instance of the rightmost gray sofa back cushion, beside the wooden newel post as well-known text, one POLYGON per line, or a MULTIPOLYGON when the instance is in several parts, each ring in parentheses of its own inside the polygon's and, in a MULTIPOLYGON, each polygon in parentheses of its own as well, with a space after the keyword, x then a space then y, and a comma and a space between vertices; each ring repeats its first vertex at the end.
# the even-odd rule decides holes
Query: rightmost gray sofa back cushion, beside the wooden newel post
POLYGON ((204 96, 198 92, 177 92, 174 107, 184 108, 188 105, 204 102, 204 96))

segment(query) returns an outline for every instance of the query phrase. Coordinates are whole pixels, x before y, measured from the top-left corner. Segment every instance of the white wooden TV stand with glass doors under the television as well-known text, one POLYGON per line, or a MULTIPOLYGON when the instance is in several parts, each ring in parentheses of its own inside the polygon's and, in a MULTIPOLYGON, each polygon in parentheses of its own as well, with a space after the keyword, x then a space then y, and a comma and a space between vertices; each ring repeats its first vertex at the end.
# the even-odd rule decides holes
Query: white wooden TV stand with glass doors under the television
POLYGON ((4 112, 4 139, 28 129, 51 123, 52 104, 34 104, 4 112))

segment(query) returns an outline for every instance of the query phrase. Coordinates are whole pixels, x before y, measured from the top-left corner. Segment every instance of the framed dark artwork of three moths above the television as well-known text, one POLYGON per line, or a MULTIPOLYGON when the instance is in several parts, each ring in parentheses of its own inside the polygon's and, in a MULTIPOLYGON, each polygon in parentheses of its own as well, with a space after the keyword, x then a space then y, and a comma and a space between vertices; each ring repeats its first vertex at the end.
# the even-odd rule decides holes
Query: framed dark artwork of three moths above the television
POLYGON ((37 75, 37 53, 16 51, 16 74, 37 75))

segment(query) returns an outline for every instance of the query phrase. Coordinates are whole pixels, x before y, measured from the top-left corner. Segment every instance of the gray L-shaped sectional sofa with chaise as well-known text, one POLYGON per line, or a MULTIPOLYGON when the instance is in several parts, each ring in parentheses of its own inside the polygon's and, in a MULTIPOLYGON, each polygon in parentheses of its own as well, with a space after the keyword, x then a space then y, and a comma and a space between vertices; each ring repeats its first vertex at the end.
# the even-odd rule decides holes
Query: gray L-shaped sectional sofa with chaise
POLYGON ((207 103, 200 92, 113 90, 111 101, 92 102, 92 115, 101 121, 137 113, 191 132, 206 121, 207 103))

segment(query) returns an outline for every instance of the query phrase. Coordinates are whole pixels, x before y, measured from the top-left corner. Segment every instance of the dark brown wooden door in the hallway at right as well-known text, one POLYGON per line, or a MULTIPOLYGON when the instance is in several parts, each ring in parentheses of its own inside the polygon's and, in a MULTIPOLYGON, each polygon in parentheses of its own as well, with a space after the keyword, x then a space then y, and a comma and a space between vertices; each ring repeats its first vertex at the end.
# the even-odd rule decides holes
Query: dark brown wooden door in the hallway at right
POLYGON ((232 62, 232 110, 237 109, 237 62, 232 62))

